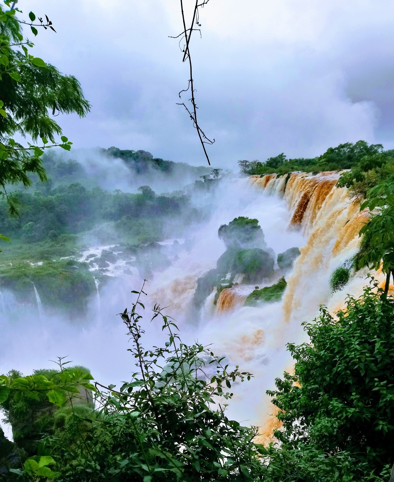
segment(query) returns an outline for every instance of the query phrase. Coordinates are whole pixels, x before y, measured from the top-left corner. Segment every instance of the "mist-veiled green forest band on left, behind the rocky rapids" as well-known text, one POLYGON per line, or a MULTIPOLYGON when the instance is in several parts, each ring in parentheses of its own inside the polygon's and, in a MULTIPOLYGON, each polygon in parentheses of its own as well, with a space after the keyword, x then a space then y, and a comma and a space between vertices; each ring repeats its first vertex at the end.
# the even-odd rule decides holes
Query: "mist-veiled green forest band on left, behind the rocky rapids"
MULTIPOLYGON (((154 231, 155 238, 162 230, 164 218, 187 214, 190 220, 197 215, 188 196, 158 196, 148 186, 138 190, 137 194, 110 193, 100 187, 87 189, 73 183, 45 193, 16 191, 13 201, 19 216, 11 216, 6 201, 0 201, 1 228, 13 237, 35 242, 47 237, 56 239, 60 234, 77 234, 98 223, 113 221, 119 233, 147 230, 151 235, 154 231)), ((152 237, 149 233, 145 233, 146 241, 152 237)))

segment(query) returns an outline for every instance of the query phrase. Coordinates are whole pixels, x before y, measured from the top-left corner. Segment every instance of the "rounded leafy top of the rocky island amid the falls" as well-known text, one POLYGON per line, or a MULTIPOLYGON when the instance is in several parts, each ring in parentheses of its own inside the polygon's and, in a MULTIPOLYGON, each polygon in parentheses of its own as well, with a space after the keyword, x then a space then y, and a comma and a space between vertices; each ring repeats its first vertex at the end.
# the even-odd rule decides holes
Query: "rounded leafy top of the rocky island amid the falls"
POLYGON ((239 216, 230 223, 223 224, 218 230, 219 239, 227 248, 264 246, 264 233, 258 219, 239 216))

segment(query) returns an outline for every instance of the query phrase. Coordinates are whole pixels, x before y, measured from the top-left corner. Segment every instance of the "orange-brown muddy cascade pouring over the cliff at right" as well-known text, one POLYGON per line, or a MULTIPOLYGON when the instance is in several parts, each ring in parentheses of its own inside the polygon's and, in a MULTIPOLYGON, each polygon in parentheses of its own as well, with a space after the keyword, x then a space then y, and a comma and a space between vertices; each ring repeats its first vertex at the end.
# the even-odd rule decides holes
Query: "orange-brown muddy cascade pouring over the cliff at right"
MULTIPOLYGON (((275 338, 270 341, 274 350, 289 341, 306 341, 307 335, 301 324, 313 321, 320 305, 326 305, 335 315, 345 308, 348 294, 357 297, 368 284, 368 269, 365 268, 355 273, 344 289, 331 293, 329 288, 333 270, 348 263, 357 252, 358 233, 369 218, 368 211, 360 212, 360 205, 349 199, 346 188, 335 186, 339 175, 331 172, 317 175, 292 173, 287 183, 286 174, 250 178, 254 186, 279 194, 287 201, 289 229, 301 229, 306 237, 305 245, 300 248, 301 255, 287 279, 281 322, 276 326, 275 338)), ((385 280, 379 271, 374 276, 379 283, 385 280)), ((282 365, 282 373, 285 366, 282 365)), ((281 376, 281 373, 278 375, 281 376)), ((277 420, 272 415, 272 406, 264 405, 261 433, 262 440, 268 442, 277 420)))

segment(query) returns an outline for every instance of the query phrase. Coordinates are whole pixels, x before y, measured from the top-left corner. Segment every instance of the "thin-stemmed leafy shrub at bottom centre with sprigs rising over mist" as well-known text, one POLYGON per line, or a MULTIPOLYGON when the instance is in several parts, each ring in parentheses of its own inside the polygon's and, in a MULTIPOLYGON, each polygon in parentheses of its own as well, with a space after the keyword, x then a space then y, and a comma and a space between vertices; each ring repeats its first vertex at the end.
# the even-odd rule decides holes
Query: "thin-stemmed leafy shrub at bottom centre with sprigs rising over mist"
POLYGON ((72 406, 65 416, 56 413, 66 423, 42 442, 56 461, 58 480, 256 480, 261 470, 256 429, 229 420, 220 403, 232 398, 233 383, 252 375, 238 366, 229 369, 209 347, 182 343, 158 306, 152 321, 162 319, 168 341, 163 348, 145 349, 137 314, 144 292, 134 293, 136 302, 121 317, 137 371, 118 390, 96 383, 101 391, 94 416, 77 414, 72 406))

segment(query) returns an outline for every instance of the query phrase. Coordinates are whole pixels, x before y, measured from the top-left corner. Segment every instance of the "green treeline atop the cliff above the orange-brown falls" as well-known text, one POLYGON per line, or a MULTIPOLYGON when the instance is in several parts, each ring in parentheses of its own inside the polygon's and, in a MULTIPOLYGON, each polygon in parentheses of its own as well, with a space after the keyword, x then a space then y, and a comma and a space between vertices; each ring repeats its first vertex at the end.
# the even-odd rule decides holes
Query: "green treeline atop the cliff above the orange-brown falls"
POLYGON ((392 157, 394 149, 383 151, 381 144, 370 144, 358 141, 355 144, 347 142, 337 147, 329 147, 321 156, 315 158, 287 159, 282 152, 267 161, 238 161, 241 170, 246 174, 286 174, 293 171, 323 172, 352 169, 361 159, 368 156, 383 154, 392 157))

